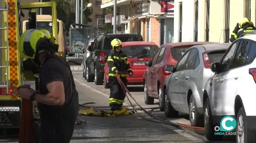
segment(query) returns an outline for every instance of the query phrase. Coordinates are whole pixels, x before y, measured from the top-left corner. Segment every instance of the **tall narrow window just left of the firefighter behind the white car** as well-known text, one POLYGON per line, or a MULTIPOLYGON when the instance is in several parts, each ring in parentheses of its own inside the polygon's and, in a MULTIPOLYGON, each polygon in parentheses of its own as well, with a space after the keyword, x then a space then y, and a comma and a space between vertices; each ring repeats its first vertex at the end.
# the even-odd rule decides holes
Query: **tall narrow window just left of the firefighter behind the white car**
POLYGON ((225 0, 225 43, 230 42, 230 0, 225 0))

